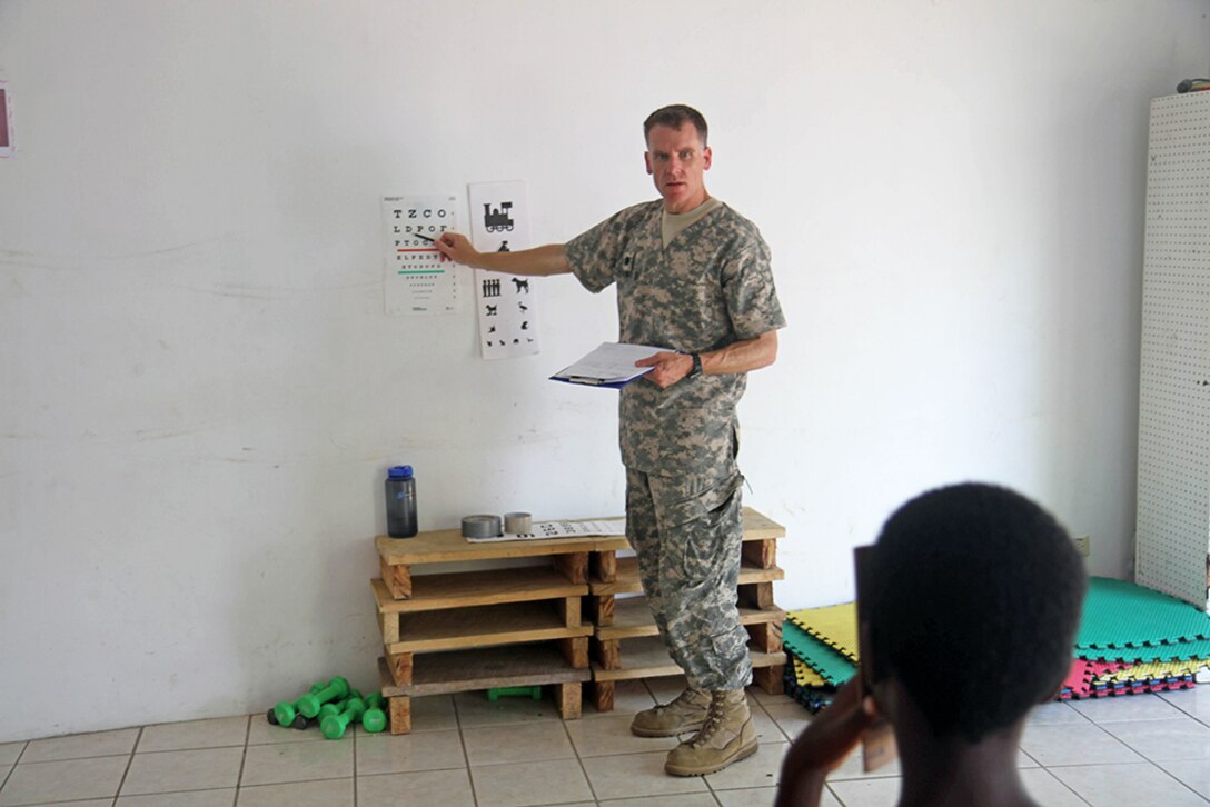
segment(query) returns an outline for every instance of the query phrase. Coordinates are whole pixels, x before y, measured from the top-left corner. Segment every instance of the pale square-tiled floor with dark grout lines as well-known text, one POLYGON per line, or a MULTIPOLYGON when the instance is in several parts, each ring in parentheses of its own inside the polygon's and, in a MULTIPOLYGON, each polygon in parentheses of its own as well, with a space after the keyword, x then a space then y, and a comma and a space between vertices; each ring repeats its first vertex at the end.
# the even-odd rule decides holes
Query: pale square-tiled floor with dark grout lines
MULTIPOLYGON (((0 744, 0 807, 415 805, 771 805, 789 739, 809 715, 753 690, 760 751, 714 776, 664 776, 672 739, 629 733, 629 715, 680 691, 675 679, 620 686, 616 709, 564 722, 551 701, 483 693, 413 701, 410 734, 270 726, 264 714, 0 744)), ((1043 805, 1210 803, 1210 686, 1053 703, 1031 719, 1021 773, 1043 805)), ((824 805, 895 803, 898 769, 849 760, 824 805)))

